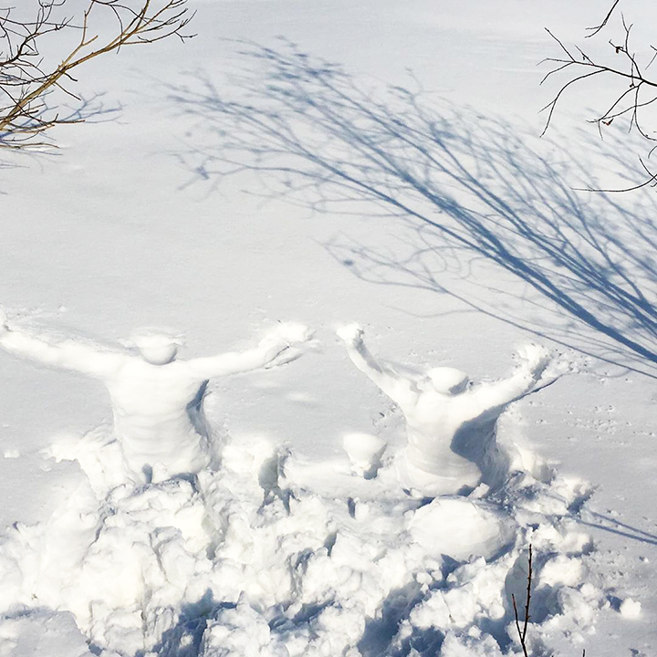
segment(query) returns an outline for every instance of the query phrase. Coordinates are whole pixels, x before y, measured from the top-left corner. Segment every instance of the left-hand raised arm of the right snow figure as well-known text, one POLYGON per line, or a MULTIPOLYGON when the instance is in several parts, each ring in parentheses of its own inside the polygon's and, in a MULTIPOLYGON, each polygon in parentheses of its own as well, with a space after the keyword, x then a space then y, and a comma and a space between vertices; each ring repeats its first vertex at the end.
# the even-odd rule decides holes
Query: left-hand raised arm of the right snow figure
POLYGON ((358 324, 348 324, 336 332, 339 339, 345 343, 353 364, 374 381, 392 401, 396 401, 400 406, 407 406, 417 400, 418 395, 412 389, 412 381, 381 365, 371 355, 362 339, 363 329, 358 324))

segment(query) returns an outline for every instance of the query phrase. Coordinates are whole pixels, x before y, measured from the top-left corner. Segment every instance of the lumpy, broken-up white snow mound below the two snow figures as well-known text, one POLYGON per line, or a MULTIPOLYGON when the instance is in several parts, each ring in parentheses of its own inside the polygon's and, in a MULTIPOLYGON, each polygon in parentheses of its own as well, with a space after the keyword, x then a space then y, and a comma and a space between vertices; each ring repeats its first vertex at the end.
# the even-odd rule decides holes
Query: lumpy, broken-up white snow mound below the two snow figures
POLYGON ((43 652, 57 627, 49 655, 511 654, 529 543, 532 641, 586 635, 603 606, 562 480, 516 472, 495 499, 427 503, 394 485, 392 458, 368 479, 228 440, 216 471, 117 485, 109 432, 59 439, 52 454, 75 455, 89 481, 0 545, 0 654, 35 623, 22 645, 43 652))

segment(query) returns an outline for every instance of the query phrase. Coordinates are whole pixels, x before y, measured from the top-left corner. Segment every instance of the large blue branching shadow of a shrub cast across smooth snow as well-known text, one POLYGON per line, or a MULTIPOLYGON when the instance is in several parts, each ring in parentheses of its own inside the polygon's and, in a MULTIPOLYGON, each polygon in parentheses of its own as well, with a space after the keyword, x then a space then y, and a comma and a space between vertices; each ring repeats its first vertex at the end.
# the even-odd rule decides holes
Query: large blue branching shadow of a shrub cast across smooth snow
MULTIPOLYGON (((462 296, 466 305, 655 376, 652 196, 631 205, 577 193, 575 183, 596 185, 557 146, 549 159, 539 156, 517 126, 450 107, 417 80, 416 90, 386 88, 288 44, 249 45, 243 55, 232 99, 203 74, 169 88, 203 137, 181 156, 193 180, 255 173, 266 197, 381 225, 393 219, 398 248, 349 235, 327 248, 372 283, 441 294, 452 294, 441 280, 450 271, 486 297, 488 276, 477 271, 494 263, 522 282, 522 310, 462 296)), ((586 146, 623 167, 605 144, 586 146)))

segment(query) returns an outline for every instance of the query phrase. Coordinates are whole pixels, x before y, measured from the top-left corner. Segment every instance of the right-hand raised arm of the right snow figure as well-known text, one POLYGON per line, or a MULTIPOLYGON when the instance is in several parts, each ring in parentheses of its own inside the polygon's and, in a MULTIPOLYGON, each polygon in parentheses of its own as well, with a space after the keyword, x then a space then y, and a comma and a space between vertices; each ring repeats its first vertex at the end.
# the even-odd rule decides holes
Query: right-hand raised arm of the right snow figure
POLYGON ((506 406, 533 391, 542 381, 543 372, 552 360, 550 352, 545 347, 532 344, 518 349, 517 355, 520 364, 508 379, 482 383, 471 392, 471 399, 478 407, 495 409, 506 406))

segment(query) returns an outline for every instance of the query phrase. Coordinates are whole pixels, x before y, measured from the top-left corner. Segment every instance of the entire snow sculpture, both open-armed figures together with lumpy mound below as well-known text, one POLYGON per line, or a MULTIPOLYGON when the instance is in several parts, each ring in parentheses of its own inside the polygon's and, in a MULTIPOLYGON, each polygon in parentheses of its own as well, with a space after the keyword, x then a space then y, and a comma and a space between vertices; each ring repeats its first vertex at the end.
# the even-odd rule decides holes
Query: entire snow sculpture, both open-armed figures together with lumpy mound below
POLYGON ((511 595, 524 600, 530 544, 533 650, 583 643, 609 606, 571 513, 587 485, 498 422, 570 369, 546 349, 520 349, 503 381, 472 385, 445 368, 411 379, 370 353, 358 325, 340 328, 350 360, 401 409, 408 441, 395 451, 350 433, 349 459, 318 464, 219 440, 203 414, 210 379, 295 360, 312 337, 304 326, 176 360, 178 339, 162 332, 115 352, 0 320, 3 349, 104 381, 114 416, 53 443, 49 455, 87 478, 47 522, 16 524, 0 545, 0 655, 519 654, 511 595))

